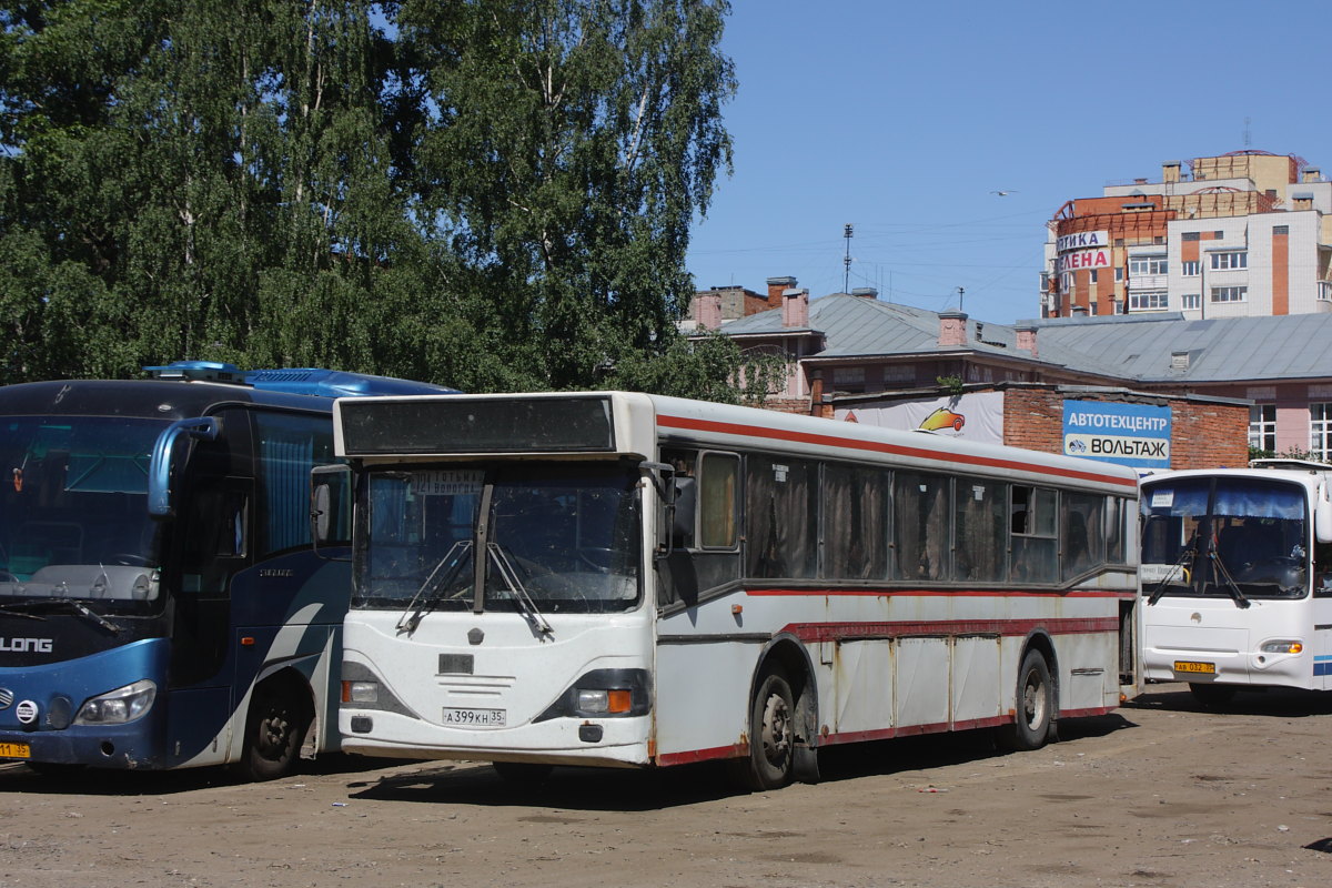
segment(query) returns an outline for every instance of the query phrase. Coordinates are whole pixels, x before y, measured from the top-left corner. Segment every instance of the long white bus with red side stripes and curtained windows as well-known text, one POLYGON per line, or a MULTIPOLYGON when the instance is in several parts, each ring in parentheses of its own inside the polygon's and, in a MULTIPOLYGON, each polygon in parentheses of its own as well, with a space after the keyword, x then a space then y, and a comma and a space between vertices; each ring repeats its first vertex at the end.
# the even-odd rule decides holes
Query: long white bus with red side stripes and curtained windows
POLYGON ((345 399, 336 449, 352 752, 771 788, 836 743, 1038 748, 1136 688, 1119 466, 627 393, 345 399))

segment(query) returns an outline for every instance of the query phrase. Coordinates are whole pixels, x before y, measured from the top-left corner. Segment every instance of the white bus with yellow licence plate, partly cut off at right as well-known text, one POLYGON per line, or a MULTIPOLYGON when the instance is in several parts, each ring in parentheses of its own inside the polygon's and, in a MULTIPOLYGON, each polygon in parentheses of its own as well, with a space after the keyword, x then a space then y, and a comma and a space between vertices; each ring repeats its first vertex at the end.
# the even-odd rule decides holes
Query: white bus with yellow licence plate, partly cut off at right
POLYGON ((1207 704, 1332 688, 1332 466, 1255 465, 1142 485, 1144 678, 1207 704))

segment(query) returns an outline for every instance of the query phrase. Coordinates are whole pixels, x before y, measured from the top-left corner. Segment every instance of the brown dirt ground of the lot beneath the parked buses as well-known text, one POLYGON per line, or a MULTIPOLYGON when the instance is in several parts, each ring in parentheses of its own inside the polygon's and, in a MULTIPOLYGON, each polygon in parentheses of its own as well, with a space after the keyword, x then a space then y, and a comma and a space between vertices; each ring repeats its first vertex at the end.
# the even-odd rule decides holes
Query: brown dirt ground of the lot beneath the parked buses
POLYGON ((823 781, 333 756, 218 772, 0 766, 0 887, 1332 884, 1332 695, 1215 712, 1152 686, 1039 752, 982 735, 826 751, 823 781))

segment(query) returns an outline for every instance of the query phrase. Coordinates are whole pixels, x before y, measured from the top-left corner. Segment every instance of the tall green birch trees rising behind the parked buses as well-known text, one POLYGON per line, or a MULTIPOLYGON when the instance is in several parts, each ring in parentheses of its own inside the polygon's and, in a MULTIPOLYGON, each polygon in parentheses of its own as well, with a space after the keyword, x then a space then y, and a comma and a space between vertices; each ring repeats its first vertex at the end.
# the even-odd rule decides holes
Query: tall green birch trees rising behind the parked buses
POLYGON ((0 381, 192 357, 753 397, 767 370, 675 329, 727 12, 0 5, 0 381))

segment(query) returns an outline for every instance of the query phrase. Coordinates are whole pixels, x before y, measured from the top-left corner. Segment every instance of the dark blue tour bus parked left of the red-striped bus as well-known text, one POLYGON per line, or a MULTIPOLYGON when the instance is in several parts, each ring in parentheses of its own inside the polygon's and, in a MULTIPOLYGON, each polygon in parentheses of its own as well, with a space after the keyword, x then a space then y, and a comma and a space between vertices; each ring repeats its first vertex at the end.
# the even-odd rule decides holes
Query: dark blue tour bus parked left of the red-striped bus
POLYGON ((148 370, 0 387, 0 760, 277 777, 340 746, 350 570, 309 523, 333 398, 453 389, 148 370))

